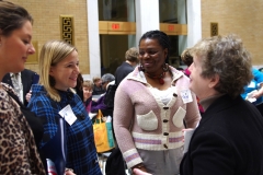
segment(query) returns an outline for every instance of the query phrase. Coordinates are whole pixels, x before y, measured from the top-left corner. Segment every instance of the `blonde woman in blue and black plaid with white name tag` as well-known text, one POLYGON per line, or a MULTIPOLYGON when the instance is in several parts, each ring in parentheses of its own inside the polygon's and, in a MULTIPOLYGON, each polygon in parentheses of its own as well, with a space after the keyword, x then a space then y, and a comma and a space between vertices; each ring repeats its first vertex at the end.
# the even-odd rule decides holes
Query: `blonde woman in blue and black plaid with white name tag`
POLYGON ((39 55, 39 84, 32 86, 28 107, 44 122, 42 151, 57 132, 57 120, 61 118, 59 112, 68 106, 65 112, 65 116, 69 116, 65 117, 66 167, 72 168, 78 175, 101 175, 92 122, 82 100, 71 91, 77 85, 78 74, 77 49, 62 40, 47 42, 39 55))

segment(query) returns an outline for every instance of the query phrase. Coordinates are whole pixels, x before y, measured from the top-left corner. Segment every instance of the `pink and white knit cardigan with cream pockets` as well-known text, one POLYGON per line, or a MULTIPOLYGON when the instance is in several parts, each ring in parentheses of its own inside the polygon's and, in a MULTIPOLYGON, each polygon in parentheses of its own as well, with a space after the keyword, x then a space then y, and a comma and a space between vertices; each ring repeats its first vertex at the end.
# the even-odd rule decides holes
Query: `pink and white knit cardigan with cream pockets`
POLYGON ((182 90, 188 90, 190 80, 183 72, 170 67, 175 89, 164 105, 159 95, 152 95, 144 72, 136 68, 118 85, 114 102, 114 130, 118 147, 128 167, 141 163, 137 149, 168 150, 183 145, 183 120, 195 128, 201 119, 195 94, 193 102, 183 103, 182 90))

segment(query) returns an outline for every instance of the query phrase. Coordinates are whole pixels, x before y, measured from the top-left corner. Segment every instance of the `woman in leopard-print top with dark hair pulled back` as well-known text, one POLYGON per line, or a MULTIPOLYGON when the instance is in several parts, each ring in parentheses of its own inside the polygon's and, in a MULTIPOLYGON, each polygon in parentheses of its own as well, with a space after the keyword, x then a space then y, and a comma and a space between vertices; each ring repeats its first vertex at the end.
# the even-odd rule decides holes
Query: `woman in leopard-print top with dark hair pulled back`
MULTIPOLYGON (((0 80, 9 72, 24 69, 27 56, 35 52, 32 39, 33 19, 16 4, 0 1, 0 80)), ((45 175, 33 132, 19 104, 9 93, 14 90, 0 83, 0 174, 45 175)))

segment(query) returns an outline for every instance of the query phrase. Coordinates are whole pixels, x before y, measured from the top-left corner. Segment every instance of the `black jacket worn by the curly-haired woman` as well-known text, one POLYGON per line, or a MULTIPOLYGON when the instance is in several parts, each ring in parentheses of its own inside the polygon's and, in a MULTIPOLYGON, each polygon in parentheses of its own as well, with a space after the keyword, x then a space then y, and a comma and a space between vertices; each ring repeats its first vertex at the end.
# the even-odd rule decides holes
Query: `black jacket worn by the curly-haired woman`
POLYGON ((224 95, 205 112, 180 175, 262 175, 263 117, 241 96, 224 95))

